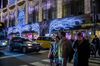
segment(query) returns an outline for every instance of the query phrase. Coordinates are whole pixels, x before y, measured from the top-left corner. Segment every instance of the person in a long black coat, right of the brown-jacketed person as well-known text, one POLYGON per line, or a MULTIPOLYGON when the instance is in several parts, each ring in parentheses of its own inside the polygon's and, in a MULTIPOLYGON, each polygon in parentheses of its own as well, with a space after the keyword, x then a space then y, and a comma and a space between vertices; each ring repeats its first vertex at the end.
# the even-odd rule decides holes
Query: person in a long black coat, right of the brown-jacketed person
POLYGON ((73 48, 75 50, 74 66, 88 66, 90 43, 81 32, 77 34, 77 40, 74 42, 73 48))

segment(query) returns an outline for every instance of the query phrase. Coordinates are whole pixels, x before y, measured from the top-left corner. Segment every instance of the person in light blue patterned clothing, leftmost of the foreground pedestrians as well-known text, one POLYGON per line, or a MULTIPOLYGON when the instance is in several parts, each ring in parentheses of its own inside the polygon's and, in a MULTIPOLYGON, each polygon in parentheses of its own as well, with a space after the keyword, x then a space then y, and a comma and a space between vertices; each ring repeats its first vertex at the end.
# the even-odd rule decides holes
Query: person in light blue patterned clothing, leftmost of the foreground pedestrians
POLYGON ((59 36, 54 36, 53 37, 54 42, 51 45, 48 58, 50 59, 50 65, 51 66, 59 66, 58 64, 58 43, 59 43, 59 36))

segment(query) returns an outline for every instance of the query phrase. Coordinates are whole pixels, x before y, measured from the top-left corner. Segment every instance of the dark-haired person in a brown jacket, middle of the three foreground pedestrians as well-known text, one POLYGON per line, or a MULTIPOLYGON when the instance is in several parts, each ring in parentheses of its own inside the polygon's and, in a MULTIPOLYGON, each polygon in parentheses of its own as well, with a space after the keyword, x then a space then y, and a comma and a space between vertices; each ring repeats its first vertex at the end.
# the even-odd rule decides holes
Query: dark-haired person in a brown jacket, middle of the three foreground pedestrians
POLYGON ((67 66, 67 61, 69 57, 71 42, 66 38, 65 32, 59 32, 60 42, 58 48, 58 57, 60 66, 67 66))

